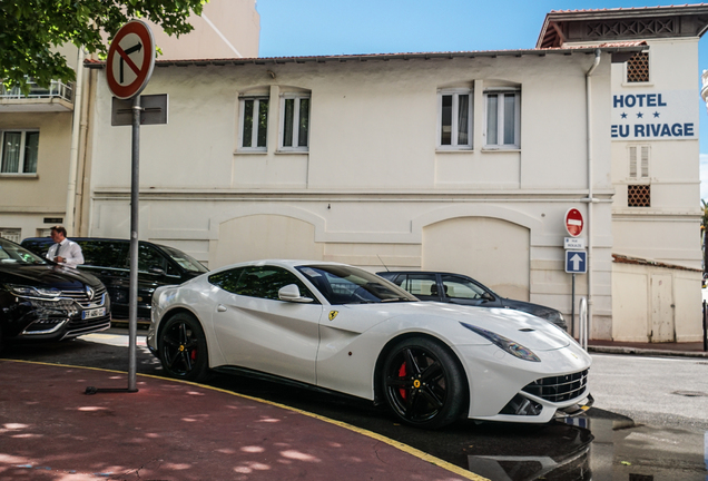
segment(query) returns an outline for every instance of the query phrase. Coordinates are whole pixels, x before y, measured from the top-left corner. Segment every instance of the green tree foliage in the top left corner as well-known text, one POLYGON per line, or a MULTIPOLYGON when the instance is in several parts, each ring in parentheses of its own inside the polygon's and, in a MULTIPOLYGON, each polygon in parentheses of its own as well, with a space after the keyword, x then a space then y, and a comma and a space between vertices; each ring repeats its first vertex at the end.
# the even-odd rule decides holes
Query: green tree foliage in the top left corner
POLYGON ((67 60, 52 50, 73 43, 106 55, 101 30, 109 40, 127 21, 142 18, 179 37, 194 27, 191 12, 208 0, 0 0, 0 65, 2 82, 27 94, 27 77, 48 87, 52 79, 75 79, 67 60), (26 77, 27 76, 27 77, 26 77))

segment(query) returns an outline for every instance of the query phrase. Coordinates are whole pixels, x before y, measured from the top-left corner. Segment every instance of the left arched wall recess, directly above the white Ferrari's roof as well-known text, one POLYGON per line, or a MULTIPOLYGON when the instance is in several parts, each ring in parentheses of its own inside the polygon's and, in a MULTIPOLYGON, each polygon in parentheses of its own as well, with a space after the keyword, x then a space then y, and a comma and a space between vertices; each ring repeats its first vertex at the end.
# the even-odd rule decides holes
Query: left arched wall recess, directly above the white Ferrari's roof
POLYGON ((315 226, 294 217, 257 214, 219 224, 210 267, 244 261, 291 258, 322 261, 324 244, 315 242, 315 226))

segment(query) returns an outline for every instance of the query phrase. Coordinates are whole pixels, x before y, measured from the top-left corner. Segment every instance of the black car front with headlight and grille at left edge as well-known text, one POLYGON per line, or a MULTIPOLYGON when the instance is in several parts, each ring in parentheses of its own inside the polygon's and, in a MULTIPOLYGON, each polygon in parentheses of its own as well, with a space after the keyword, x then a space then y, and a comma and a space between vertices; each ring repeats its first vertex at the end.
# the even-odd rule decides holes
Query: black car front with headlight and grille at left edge
POLYGON ((0 346, 61 341, 110 327, 110 300, 95 276, 0 238, 0 346))

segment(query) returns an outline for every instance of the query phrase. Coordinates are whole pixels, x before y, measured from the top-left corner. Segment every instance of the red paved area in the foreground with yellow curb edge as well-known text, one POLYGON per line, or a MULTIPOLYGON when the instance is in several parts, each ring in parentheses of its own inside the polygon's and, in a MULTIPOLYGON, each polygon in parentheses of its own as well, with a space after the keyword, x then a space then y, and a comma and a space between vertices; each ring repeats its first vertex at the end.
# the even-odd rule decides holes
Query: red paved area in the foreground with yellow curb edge
MULTIPOLYGON (((2 480, 481 479, 304 413, 138 376, 0 361, 2 480), (448 469, 449 468, 449 469, 448 469)), ((405 449, 405 448, 403 448, 405 449)))

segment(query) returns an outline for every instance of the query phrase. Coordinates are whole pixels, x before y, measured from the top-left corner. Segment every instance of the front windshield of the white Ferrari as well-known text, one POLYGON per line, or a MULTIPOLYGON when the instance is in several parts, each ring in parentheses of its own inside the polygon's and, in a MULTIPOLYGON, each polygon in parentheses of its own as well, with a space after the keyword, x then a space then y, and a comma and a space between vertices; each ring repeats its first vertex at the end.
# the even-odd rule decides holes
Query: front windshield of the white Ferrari
POLYGON ((416 297, 375 274, 347 265, 298 266, 330 304, 411 302, 416 297))

